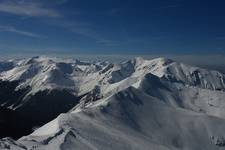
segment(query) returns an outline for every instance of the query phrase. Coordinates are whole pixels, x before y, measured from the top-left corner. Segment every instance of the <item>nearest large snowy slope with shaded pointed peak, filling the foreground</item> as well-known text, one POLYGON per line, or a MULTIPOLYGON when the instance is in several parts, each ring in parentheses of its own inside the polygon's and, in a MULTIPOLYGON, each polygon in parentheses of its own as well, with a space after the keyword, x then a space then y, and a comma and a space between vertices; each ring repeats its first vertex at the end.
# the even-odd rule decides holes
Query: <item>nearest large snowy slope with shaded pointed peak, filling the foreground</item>
POLYGON ((169 107, 130 87, 62 114, 18 142, 37 150, 212 150, 224 148, 224 131, 224 119, 169 107))

